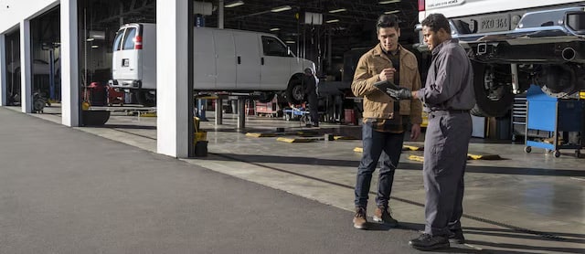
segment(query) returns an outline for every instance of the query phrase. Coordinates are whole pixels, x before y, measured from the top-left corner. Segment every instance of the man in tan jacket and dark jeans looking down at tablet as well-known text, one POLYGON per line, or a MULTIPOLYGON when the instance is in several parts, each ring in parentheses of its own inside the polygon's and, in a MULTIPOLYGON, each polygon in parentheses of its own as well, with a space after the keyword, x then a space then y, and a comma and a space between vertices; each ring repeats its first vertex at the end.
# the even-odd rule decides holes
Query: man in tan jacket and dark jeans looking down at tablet
POLYGON ((391 217, 388 206, 394 171, 399 164, 405 132, 410 127, 410 139, 420 135, 421 103, 418 100, 394 101, 378 90, 374 83, 389 80, 410 90, 420 89, 417 58, 399 45, 399 19, 395 15, 379 16, 376 24, 379 43, 367 51, 357 63, 351 88, 364 98, 362 141, 364 153, 357 168, 355 228, 367 228, 367 197, 378 159, 382 164, 378 177, 377 208, 373 219, 390 226, 398 221, 391 217), (382 153, 383 152, 383 153, 382 153))

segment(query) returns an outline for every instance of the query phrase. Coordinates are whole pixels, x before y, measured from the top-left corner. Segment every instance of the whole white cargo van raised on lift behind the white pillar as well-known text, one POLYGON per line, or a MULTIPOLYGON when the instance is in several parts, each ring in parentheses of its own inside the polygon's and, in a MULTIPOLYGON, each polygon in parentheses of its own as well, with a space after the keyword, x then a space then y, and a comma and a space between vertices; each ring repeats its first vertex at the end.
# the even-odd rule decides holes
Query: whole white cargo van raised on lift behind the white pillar
MULTIPOLYGON (((262 92, 261 97, 267 99, 276 91, 285 91, 291 102, 303 99, 303 69, 314 69, 314 62, 296 58, 278 37, 213 27, 194 29, 194 90, 262 92)), ((154 105, 154 24, 127 24, 118 30, 110 85, 136 91, 141 104, 154 105)))

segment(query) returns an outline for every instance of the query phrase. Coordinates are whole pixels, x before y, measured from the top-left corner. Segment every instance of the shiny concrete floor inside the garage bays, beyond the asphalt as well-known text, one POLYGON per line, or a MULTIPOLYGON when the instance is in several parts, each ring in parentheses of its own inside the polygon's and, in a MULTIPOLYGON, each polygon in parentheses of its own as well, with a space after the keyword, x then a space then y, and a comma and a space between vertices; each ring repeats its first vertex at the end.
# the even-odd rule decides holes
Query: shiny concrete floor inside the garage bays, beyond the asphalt
MULTIPOLYGON (((47 108, 44 114, 32 115, 60 123, 58 108, 47 108)), ((359 132, 359 127, 324 123, 319 129, 304 128, 299 122, 250 116, 247 129, 240 131, 235 129, 233 114, 225 114, 224 124, 220 126, 214 125, 213 112, 207 112, 207 118, 210 122, 201 122, 201 127, 207 131, 208 156, 185 159, 186 162, 353 210, 353 186, 361 156, 353 149, 361 146, 361 141, 321 139, 313 143, 282 143, 276 137, 247 137, 245 132, 272 132, 282 127, 287 132, 319 132, 320 137, 323 132, 359 132)), ((152 117, 116 112, 104 127, 76 129, 154 152, 155 122, 152 117)), ((422 142, 406 144, 421 146, 422 142)), ((463 230, 470 249, 585 253, 585 159, 582 156, 576 158, 573 150, 561 151, 558 158, 541 149, 525 153, 522 143, 491 143, 483 139, 473 139, 470 153, 473 152, 496 153, 503 159, 468 163, 463 230)), ((422 229, 422 164, 409 160, 410 154, 422 155, 422 152, 402 154, 390 206, 401 225, 422 229)), ((370 197, 371 204, 374 196, 370 197)), ((373 206, 368 210, 371 213, 373 206)), ((348 224, 351 219, 347 217, 348 224)))

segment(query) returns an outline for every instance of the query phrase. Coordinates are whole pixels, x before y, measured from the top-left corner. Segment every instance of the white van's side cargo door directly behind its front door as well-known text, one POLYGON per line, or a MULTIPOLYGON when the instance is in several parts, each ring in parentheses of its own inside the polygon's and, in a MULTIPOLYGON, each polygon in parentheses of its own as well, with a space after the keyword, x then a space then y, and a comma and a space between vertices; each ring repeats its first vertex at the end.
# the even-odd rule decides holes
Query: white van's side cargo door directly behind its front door
POLYGON ((260 90, 260 41, 256 33, 234 32, 236 90, 260 90))

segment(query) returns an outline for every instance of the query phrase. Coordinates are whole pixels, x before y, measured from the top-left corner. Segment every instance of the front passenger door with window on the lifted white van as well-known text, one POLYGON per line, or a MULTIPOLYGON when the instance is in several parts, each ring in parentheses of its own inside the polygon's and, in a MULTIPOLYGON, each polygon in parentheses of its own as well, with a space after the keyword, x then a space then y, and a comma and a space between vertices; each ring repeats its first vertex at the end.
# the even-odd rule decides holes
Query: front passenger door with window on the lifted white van
POLYGON ((261 90, 284 90, 292 76, 294 58, 280 39, 261 36, 261 40, 261 90))

